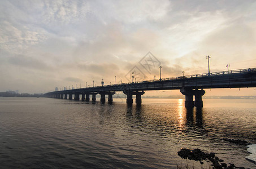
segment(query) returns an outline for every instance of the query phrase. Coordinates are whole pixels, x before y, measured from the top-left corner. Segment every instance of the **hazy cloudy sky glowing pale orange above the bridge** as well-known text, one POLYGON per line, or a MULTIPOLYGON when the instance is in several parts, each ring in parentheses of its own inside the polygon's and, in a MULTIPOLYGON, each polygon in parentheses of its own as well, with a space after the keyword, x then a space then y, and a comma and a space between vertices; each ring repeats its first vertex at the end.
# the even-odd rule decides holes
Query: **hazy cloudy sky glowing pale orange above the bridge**
MULTIPOLYGON (((0 91, 256 67, 256 1, 0 1, 0 91), (147 71, 140 61, 159 61, 147 71)), ((255 88, 254 88, 255 89, 255 88)), ((211 95, 256 95, 253 88, 211 95)), ((166 92, 165 92, 166 94, 166 92)), ((171 95, 168 92, 168 95, 171 95)))

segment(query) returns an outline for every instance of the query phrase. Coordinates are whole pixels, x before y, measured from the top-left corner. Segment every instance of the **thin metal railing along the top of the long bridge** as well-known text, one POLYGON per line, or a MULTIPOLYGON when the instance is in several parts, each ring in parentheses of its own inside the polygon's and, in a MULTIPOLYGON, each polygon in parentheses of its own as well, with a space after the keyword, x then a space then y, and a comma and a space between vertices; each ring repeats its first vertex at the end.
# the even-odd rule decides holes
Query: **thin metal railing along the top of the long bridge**
MULTIPOLYGON (((256 68, 248 68, 248 69, 237 69, 237 70, 229 70, 229 71, 221 71, 221 72, 212 72, 210 73, 210 76, 213 75, 223 75, 223 74, 235 74, 235 73, 248 73, 248 72, 256 72, 256 68)), ((162 78, 162 79, 153 79, 148 81, 138 81, 134 83, 147 83, 147 82, 157 82, 157 81, 170 81, 175 79, 184 79, 184 78, 198 78, 198 77, 207 77, 209 76, 208 73, 201 73, 201 74, 192 74, 192 75, 184 75, 184 76, 176 76, 176 77, 170 77, 170 78, 162 78)), ((128 83, 119 83, 119 84, 110 84, 105 85, 104 87, 111 87, 111 86, 121 86, 124 84, 132 84, 132 82, 128 83)), ((95 86, 95 87, 86 87, 88 89, 93 89, 96 87, 102 87, 102 86, 95 86)))

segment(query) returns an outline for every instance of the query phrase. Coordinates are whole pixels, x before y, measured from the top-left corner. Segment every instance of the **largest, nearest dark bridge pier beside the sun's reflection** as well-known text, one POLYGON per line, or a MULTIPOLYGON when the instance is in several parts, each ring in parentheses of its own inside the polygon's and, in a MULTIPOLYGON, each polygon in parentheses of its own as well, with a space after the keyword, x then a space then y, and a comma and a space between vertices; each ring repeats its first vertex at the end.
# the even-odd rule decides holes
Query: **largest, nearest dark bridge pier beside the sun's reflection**
POLYGON ((193 90, 192 88, 181 88, 181 94, 185 95, 185 107, 193 108, 196 106, 197 108, 203 107, 202 96, 205 94, 204 90, 193 90), (193 101, 193 95, 195 96, 195 101, 193 101))

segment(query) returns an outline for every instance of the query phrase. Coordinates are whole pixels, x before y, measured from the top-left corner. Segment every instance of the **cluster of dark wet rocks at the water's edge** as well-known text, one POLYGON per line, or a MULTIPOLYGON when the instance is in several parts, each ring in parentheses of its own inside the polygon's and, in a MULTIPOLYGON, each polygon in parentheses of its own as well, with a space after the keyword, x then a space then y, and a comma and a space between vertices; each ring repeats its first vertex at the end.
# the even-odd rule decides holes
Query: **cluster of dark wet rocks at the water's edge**
POLYGON ((190 150, 190 149, 181 149, 178 152, 178 155, 181 158, 184 159, 190 159, 190 160, 194 160, 194 161, 199 161, 201 164, 203 164, 202 161, 206 161, 206 162, 211 162, 211 166, 213 166, 216 169, 233 169, 233 168, 239 168, 239 169, 245 169, 245 167, 236 167, 235 164, 231 164, 231 163, 224 163, 224 161, 222 159, 219 159, 218 157, 216 157, 215 153, 204 153, 202 152, 202 150, 200 149, 194 149, 194 150, 190 150))

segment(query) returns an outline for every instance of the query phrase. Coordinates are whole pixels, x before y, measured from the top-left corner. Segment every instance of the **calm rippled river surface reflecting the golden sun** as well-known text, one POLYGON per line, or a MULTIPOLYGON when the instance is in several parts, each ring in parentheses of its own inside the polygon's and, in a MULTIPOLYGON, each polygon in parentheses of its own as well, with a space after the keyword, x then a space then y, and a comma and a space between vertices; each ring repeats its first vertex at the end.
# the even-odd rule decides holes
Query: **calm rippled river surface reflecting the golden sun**
POLYGON ((0 97, 0 168, 207 168, 181 159, 181 148, 256 168, 246 146, 222 140, 256 144, 256 100, 205 99, 202 109, 185 109, 183 99, 142 102, 0 97))

